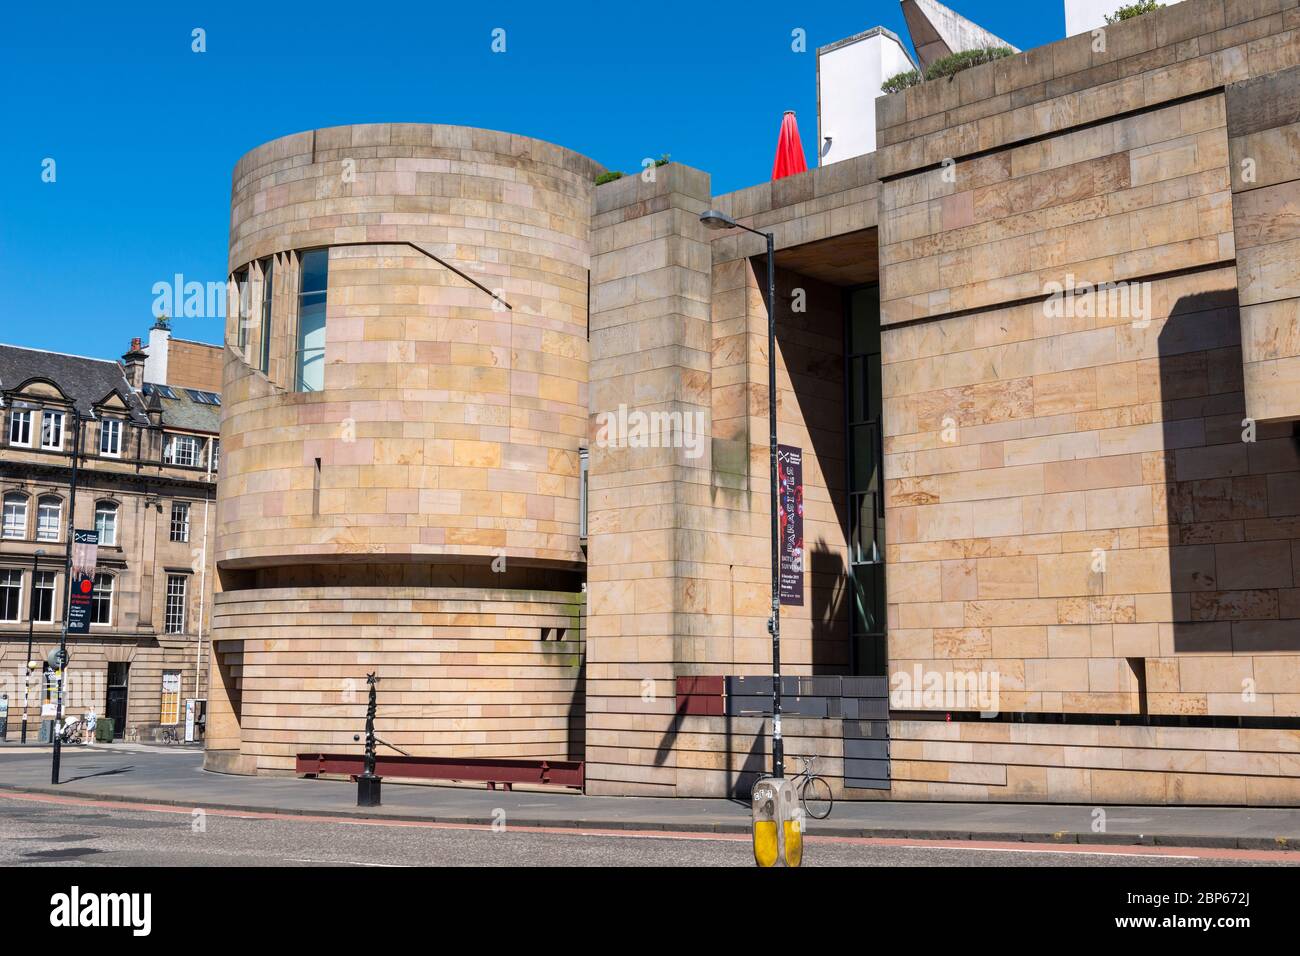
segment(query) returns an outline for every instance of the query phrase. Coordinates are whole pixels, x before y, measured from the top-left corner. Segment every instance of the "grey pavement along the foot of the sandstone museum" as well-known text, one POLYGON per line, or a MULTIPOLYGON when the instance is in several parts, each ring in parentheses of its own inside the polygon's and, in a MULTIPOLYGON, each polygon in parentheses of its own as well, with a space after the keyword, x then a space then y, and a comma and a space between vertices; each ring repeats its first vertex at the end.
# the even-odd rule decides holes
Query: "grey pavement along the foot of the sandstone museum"
MULTIPOLYGON (((733 800, 584 796, 569 791, 385 782, 384 806, 359 809, 347 780, 237 777, 203 770, 196 747, 100 744, 62 749, 61 783, 49 748, 0 748, 0 790, 122 804, 425 823, 748 834, 749 805, 733 800)), ((838 801, 810 838, 992 840, 1034 844, 1300 849, 1300 809, 1075 806, 838 801)), ((1300 860, 1300 856, 1297 856, 1300 860)))

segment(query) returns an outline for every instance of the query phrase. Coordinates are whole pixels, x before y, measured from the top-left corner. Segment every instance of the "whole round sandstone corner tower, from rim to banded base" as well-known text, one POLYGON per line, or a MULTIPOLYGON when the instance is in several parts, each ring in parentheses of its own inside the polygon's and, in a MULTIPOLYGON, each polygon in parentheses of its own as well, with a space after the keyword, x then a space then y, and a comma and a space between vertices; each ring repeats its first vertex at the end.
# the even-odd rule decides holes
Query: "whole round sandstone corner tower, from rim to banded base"
POLYGON ((595 163, 341 126, 235 166, 208 760, 580 758, 595 163))

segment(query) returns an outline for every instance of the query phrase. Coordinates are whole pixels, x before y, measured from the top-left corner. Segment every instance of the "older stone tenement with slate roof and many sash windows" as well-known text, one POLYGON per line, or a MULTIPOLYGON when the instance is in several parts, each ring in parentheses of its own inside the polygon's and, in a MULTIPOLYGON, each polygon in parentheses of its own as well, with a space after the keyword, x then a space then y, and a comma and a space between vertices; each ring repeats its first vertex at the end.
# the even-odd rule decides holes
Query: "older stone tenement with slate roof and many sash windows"
MULTIPOLYGON (((98 529, 100 545, 90 633, 68 637, 66 713, 95 710, 113 718, 116 736, 147 740, 183 723, 187 697, 205 696, 220 356, 218 347, 172 338, 166 323, 148 346, 135 339, 121 363, 0 345, 8 740, 21 735, 29 632, 35 661, 58 645, 72 528, 98 529)), ((35 671, 29 740, 52 693, 35 671)))

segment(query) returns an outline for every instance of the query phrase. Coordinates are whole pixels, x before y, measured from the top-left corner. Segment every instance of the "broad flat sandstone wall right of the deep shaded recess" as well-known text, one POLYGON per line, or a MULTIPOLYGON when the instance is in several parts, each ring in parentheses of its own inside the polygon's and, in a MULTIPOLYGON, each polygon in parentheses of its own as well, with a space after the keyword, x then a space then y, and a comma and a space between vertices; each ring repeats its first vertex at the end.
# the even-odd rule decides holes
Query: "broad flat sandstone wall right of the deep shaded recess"
MULTIPOLYGON (((1300 714, 1300 451, 1244 420, 1222 90, 1300 59, 1294 8, 1188 0, 880 101, 893 674, 996 674, 1002 711, 1300 714), (1136 298, 1053 300, 1071 277, 1136 298)), ((936 708, 983 709, 909 709, 936 708)), ((896 797, 1300 796, 1288 730, 893 736, 896 797)))

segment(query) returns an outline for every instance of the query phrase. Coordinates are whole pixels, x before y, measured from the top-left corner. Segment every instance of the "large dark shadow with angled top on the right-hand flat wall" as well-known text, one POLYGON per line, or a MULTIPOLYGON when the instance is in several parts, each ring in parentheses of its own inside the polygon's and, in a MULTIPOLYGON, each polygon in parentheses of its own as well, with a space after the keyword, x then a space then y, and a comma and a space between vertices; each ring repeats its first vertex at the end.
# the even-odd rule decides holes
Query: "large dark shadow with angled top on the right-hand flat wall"
POLYGON ((1180 298, 1158 352, 1174 650, 1295 652, 1300 453, 1290 423, 1244 421, 1236 290, 1180 298))

